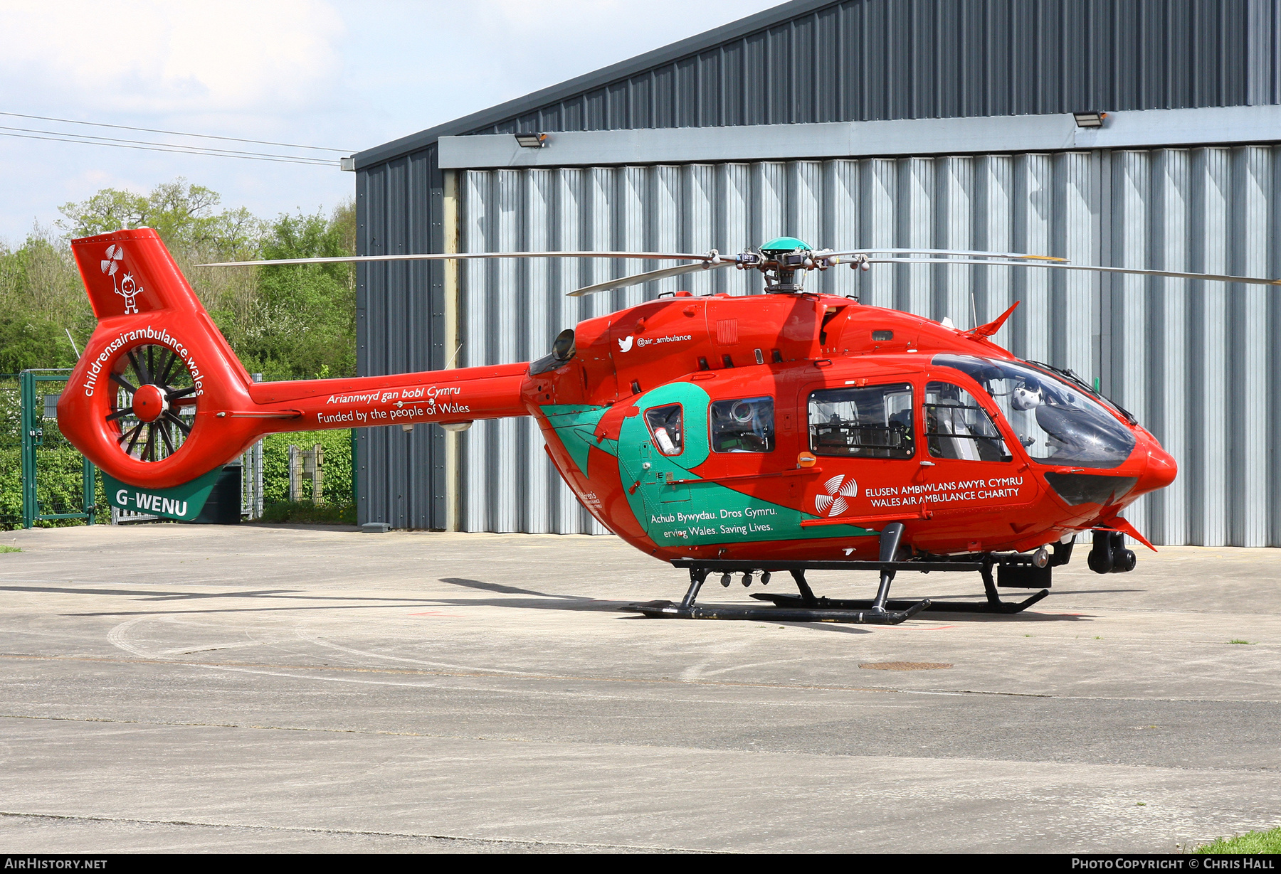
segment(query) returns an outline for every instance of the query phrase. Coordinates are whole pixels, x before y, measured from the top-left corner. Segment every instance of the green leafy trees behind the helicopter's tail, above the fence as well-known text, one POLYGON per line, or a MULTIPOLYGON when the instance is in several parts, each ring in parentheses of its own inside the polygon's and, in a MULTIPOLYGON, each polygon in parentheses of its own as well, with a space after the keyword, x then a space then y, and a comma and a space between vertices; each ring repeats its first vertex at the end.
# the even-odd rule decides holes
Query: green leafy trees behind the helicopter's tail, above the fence
POLYGON ((0 372, 70 366, 76 356, 67 329, 79 343, 92 333, 96 322, 68 238, 150 226, 250 371, 275 379, 355 374, 351 265, 197 266, 354 255, 354 202, 330 215, 298 212, 263 221, 243 207, 223 209, 210 188, 175 179, 146 195, 104 188, 60 211, 60 234, 36 228, 17 250, 0 244, 0 372))

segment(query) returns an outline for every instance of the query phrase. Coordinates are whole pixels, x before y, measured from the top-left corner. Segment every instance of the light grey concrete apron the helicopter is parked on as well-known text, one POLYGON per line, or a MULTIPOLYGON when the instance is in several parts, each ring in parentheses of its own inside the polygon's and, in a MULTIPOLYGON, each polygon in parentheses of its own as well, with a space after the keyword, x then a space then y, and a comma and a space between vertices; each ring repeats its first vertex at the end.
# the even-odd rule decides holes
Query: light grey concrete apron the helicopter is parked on
POLYGON ((9 852, 1170 851, 1281 822, 1269 550, 1079 555, 1016 617, 852 627, 619 613, 685 580, 612 537, 0 541, 9 852))

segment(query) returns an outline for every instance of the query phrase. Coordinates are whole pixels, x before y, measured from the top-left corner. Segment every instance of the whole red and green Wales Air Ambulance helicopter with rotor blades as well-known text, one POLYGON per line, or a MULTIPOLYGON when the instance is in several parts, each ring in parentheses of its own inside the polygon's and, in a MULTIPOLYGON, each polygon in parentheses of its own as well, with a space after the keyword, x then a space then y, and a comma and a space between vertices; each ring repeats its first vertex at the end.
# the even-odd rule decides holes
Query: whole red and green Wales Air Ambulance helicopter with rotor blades
MULTIPOLYGON (((1003 264, 1218 282, 1281 280, 1071 265, 940 250, 815 251, 784 237, 737 256, 510 252, 236 264, 617 257, 685 264, 578 289, 694 270, 760 270, 766 293, 676 292, 561 331, 538 361, 360 379, 254 383, 147 228, 72 242, 97 329, 58 404, 63 434, 97 465, 115 505, 192 518, 222 466, 273 431, 533 416, 566 485, 608 530, 687 568, 680 603, 651 617, 892 624, 925 609, 1016 613, 1049 594, 1077 534, 1089 566, 1134 568, 1121 512, 1173 481, 1175 459, 1134 416, 1071 371, 991 342, 1015 307, 961 330, 808 293, 845 264, 1003 264), (870 600, 817 598, 811 569, 875 571, 870 600), (696 603, 705 580, 799 595, 772 607, 696 603), (899 571, 981 575, 986 600, 889 599, 899 571), (1039 589, 1003 603, 998 586, 1039 589)), ((1017 303, 1015 305, 1017 306, 1017 303)))

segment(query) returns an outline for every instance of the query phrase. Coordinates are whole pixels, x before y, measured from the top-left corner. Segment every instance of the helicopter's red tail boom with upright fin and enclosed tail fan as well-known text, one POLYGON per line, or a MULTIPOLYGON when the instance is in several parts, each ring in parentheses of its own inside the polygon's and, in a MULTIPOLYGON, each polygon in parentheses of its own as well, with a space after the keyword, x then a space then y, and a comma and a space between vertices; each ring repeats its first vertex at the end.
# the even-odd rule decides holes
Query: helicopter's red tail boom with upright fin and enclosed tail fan
POLYGON ((73 239, 72 251, 99 324, 58 425, 122 482, 190 482, 273 431, 528 415, 528 365, 255 384, 155 230, 73 239))

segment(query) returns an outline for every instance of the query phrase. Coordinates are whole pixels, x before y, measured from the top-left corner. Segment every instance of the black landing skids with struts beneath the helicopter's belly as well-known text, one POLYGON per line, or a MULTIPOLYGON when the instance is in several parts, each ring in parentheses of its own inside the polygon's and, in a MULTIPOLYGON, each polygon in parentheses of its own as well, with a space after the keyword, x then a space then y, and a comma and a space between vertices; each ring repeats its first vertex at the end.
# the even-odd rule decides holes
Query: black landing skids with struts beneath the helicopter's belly
MULTIPOLYGON (((879 562, 776 562, 752 564, 725 559, 676 559, 676 567, 689 569, 689 591, 685 598, 675 604, 673 601, 648 601, 646 604, 632 604, 623 608, 629 612, 642 613, 655 619, 755 619, 763 622, 848 622, 860 624, 886 624, 893 626, 904 622, 917 613, 931 610, 936 613, 997 613, 1009 616, 1021 613, 1029 607, 1049 595, 1048 589, 1041 589, 1035 595, 1017 603, 1000 600, 997 592, 997 584, 993 577, 993 567, 1002 563, 1026 563, 1029 559, 1021 555, 995 557, 986 554, 975 557, 971 560, 894 560, 898 552, 899 540, 903 535, 903 525, 892 522, 885 526, 880 537, 879 562), (699 589, 714 572, 744 573, 755 571, 789 571, 796 580, 799 595, 772 595, 753 594, 752 598, 774 604, 770 607, 733 607, 714 605, 702 607, 694 603, 699 589), (806 582, 806 571, 880 571, 880 586, 876 598, 871 600, 848 600, 817 598, 806 582), (983 576, 983 589, 986 595, 984 601, 920 601, 889 600, 889 586, 898 571, 977 571, 983 576)), ((746 585, 746 582, 744 582, 746 585)), ((1047 584, 1048 585, 1048 584, 1047 584)))

